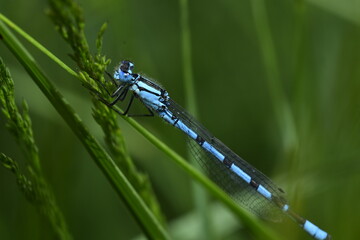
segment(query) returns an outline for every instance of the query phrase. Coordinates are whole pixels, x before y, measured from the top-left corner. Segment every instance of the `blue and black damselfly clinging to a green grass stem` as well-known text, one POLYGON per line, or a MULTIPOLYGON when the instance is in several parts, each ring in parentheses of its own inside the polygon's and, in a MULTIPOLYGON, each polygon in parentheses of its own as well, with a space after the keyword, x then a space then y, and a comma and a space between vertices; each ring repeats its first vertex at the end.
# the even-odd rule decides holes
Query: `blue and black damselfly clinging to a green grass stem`
POLYGON ((113 93, 106 90, 112 101, 105 100, 97 90, 90 90, 95 92, 101 102, 120 115, 134 116, 129 114, 129 110, 133 100, 139 99, 148 110, 147 114, 141 116, 156 114, 185 133, 190 139, 191 152, 205 172, 244 208, 263 219, 272 221, 280 221, 282 216, 286 215, 314 239, 331 239, 330 234, 290 208, 285 193, 280 187, 214 137, 194 117, 174 102, 163 87, 140 74, 133 73, 133 68, 134 64, 125 60, 116 68, 113 76, 107 73, 116 85, 113 93), (126 99, 129 92, 132 94, 125 110, 120 111, 114 108, 116 103, 126 99))

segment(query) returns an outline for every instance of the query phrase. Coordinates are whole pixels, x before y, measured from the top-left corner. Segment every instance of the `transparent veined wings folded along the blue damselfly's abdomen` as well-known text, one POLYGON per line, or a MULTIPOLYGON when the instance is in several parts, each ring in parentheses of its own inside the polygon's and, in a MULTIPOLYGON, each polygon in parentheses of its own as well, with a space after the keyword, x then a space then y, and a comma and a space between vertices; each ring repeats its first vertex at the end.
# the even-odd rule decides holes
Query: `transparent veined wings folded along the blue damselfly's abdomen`
MULTIPOLYGON (((206 128, 188 114, 181 106, 169 99, 168 109, 183 121, 185 125, 195 131, 205 141, 212 144, 217 150, 222 152, 227 158, 240 167, 244 172, 252 177, 254 181, 263 185, 271 192, 273 197, 282 199, 285 202, 284 192, 278 188, 268 177, 259 170, 251 166, 248 162, 231 151, 220 140, 212 136, 206 128)), ((203 167, 210 178, 227 192, 237 203, 250 210, 261 218, 280 221, 282 212, 276 204, 260 195, 256 189, 243 181, 239 176, 230 171, 217 158, 203 150, 194 140, 189 139, 191 152, 203 167)))

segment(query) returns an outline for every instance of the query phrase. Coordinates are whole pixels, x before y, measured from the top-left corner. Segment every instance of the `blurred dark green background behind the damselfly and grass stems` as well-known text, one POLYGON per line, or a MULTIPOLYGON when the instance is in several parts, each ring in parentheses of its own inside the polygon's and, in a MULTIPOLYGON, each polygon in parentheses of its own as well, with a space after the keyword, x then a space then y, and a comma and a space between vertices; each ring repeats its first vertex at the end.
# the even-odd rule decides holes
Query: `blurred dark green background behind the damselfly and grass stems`
MULTIPOLYGON (((93 49, 100 26, 108 22, 103 52, 113 60, 109 70, 120 60, 130 59, 136 64, 135 72, 156 79, 173 99, 185 104, 178 1, 79 3, 93 49)), ((68 56, 71 49, 54 30, 44 13, 46 8, 45 0, 0 0, 2 14, 76 69, 68 56)), ((360 2, 267 1, 265 20, 274 54, 266 51, 269 41, 262 35, 266 29, 256 24, 259 19, 253 8, 251 1, 189 3, 199 118, 215 136, 281 186, 297 212, 330 232, 334 239, 358 239, 360 2), (264 59, 270 59, 270 71, 264 59), (277 80, 284 93, 280 102, 274 101, 279 97, 274 95, 277 80), (286 125, 285 115, 276 112, 284 100, 292 112, 293 128, 286 125)), ((91 117, 87 91, 23 43, 101 140, 101 129, 91 117)), ((3 44, 0 56, 14 78, 17 100, 29 103, 44 172, 74 239, 139 236, 141 230, 101 171, 3 44)), ((150 176, 171 229, 185 230, 179 239, 191 239, 187 234, 199 231, 187 218, 191 218, 194 206, 191 179, 126 122, 119 121, 127 147, 138 168, 150 176), (181 220, 184 224, 177 225, 181 220)), ((158 118, 138 121, 186 156, 184 136, 177 130, 158 118)), ((23 159, 2 116, 0 151, 23 159)), ((215 219, 229 214, 223 207, 209 208, 215 211, 215 219)), ((220 229, 215 238, 252 239, 231 214, 225 219, 215 224, 220 229)), ((290 220, 266 224, 280 239, 310 239, 290 220)), ((18 190, 14 176, 0 167, 0 239, 53 237, 48 223, 18 190)))

